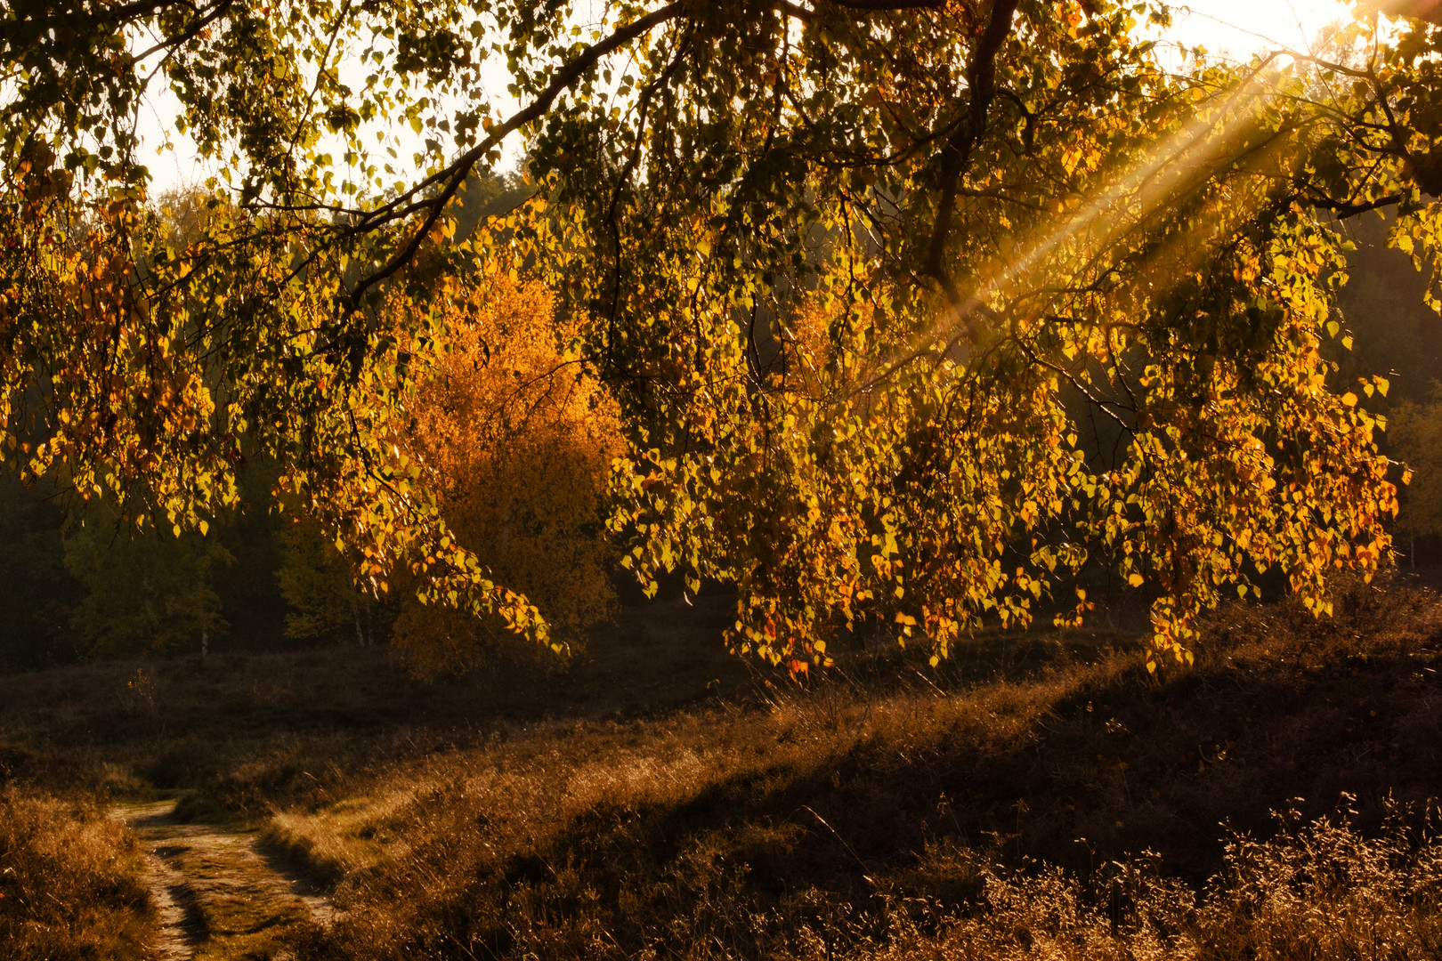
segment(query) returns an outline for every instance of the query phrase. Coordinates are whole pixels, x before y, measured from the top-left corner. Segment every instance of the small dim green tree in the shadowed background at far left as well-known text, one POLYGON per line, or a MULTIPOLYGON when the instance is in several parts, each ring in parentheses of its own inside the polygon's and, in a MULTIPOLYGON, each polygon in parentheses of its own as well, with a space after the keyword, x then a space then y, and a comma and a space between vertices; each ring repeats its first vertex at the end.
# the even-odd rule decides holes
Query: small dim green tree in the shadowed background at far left
POLYGON ((199 653, 228 628, 212 575, 229 562, 215 537, 131 536, 102 509, 88 511, 65 539, 65 566, 85 592, 71 614, 76 643, 95 657, 199 653))

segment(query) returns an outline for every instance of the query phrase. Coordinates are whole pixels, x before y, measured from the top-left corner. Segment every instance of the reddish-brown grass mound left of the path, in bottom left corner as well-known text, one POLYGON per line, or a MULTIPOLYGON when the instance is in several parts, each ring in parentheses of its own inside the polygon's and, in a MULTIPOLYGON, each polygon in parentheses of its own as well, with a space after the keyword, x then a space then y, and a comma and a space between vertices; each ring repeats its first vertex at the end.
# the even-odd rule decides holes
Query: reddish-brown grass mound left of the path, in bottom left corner
POLYGON ((6 958, 141 958, 153 922, 136 841, 99 805, 0 790, 6 958))

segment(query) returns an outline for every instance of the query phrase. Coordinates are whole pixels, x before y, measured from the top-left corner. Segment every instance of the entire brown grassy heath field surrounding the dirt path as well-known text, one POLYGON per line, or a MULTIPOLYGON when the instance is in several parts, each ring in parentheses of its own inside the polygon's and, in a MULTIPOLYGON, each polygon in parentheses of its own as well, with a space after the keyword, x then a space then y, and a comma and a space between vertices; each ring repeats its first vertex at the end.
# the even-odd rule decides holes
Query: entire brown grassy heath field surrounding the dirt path
POLYGON ((632 608, 571 664, 435 683, 369 648, 0 679, 6 803, 40 811, 0 836, 0 937, 140 957, 97 811, 183 791, 330 886, 300 958, 1442 957, 1432 592, 1231 608, 1159 679, 1132 635, 1031 633, 940 670, 858 644, 802 687, 725 617, 632 608), (26 859, 111 893, 32 916, 26 859))

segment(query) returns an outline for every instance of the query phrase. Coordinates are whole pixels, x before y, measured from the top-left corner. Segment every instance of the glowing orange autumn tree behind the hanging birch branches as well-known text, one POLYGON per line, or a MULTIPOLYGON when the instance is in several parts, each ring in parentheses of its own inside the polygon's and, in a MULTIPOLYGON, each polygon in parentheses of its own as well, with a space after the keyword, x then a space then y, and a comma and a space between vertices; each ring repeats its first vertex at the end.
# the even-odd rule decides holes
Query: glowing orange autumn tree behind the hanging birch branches
MULTIPOLYGON (((495 269, 435 310, 448 334, 405 442, 457 543, 574 645, 616 599, 603 517, 616 403, 568 352, 575 331, 544 284, 495 269)), ((425 670, 464 669, 509 634, 499 617, 408 599, 395 641, 425 670)))

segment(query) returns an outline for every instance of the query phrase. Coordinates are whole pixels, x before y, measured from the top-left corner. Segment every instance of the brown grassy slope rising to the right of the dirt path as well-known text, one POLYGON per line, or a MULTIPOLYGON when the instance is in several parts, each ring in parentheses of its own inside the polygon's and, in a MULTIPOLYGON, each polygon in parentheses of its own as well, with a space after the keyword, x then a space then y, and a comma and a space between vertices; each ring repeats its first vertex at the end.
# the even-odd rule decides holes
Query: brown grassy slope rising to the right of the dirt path
POLYGON ((1442 795, 1439 638, 1433 595, 1358 586, 1321 624, 1224 611, 1159 680, 1106 637, 1009 635, 939 673, 855 660, 753 706, 497 732, 273 820, 349 912, 297 948, 1438 957, 1439 847, 1399 811, 1442 795))

